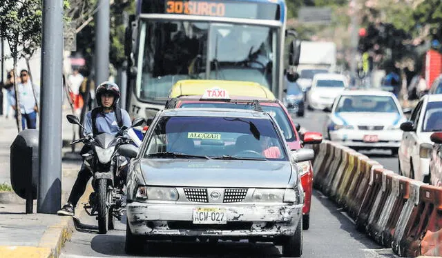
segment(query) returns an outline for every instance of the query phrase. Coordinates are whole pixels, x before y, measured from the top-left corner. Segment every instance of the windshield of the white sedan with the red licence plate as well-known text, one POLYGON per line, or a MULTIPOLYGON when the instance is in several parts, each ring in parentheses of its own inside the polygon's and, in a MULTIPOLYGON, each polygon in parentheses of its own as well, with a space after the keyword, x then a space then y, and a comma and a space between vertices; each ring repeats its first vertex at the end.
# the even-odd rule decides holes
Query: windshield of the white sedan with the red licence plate
POLYGON ((342 96, 336 112, 392 112, 398 113, 394 99, 389 96, 342 96))

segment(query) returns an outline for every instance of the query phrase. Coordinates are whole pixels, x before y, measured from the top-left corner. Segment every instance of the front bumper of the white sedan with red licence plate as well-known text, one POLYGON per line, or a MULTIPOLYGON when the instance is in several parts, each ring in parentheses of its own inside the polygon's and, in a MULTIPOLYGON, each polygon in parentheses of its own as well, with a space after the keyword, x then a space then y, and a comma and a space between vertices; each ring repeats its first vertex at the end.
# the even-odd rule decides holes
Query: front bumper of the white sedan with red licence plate
POLYGON ((330 139, 344 146, 366 148, 399 148, 401 145, 402 131, 394 130, 354 130, 340 129, 329 131, 330 139), (377 135, 377 142, 365 142, 365 135, 377 135))

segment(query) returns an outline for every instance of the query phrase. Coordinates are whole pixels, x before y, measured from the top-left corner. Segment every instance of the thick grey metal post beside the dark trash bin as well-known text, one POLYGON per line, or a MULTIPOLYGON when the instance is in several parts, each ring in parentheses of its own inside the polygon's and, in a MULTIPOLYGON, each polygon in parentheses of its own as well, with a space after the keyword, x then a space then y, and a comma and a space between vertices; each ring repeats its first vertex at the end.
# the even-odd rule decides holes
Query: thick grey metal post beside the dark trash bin
POLYGON ((43 0, 37 212, 61 207, 61 102, 63 1, 43 0))

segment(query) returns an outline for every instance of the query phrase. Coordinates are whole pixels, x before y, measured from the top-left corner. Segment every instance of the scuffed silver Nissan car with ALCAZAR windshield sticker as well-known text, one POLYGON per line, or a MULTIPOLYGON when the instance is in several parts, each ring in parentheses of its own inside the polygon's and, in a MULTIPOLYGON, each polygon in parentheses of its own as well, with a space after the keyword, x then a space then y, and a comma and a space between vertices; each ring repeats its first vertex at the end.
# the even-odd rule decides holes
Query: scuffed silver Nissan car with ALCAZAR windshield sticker
POLYGON ((304 192, 296 162, 273 118, 254 110, 162 110, 127 181, 126 252, 146 240, 249 239, 302 254, 304 192))

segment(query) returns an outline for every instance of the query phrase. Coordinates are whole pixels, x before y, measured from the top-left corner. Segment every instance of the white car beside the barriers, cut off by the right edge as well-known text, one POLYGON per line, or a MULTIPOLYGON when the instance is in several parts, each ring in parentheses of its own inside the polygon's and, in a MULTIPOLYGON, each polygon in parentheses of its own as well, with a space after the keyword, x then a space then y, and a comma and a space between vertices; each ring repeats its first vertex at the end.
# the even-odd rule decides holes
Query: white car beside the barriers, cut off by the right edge
POLYGON ((410 121, 402 123, 401 129, 404 133, 398 152, 399 172, 429 183, 430 136, 442 130, 442 95, 423 96, 413 109, 410 121))

